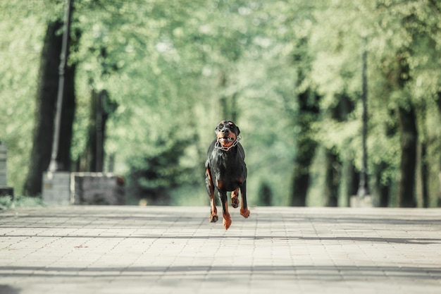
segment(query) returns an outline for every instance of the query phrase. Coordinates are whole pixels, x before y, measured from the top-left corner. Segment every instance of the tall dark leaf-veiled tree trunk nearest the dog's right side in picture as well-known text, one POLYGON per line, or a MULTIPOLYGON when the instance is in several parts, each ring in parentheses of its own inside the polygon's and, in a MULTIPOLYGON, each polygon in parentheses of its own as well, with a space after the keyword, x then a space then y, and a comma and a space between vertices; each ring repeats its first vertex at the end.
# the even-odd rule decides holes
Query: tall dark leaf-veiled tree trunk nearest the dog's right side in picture
POLYGON ((299 115, 297 118, 299 133, 294 157, 291 206, 306 206, 310 178, 309 167, 317 147, 317 142, 313 140, 311 124, 318 119, 318 113, 318 96, 315 93, 311 94, 310 91, 299 94, 299 115))

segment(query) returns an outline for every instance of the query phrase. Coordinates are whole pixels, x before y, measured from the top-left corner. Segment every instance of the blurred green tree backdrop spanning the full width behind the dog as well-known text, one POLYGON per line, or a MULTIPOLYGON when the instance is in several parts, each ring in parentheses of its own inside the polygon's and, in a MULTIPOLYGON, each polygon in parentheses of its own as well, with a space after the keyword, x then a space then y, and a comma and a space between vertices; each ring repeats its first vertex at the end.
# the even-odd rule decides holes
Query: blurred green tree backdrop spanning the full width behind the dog
MULTIPOLYGON (((45 34, 63 21, 65 5, 0 3, 0 141, 19 194, 37 156, 31 150, 42 115, 36 97, 45 34)), ((218 121, 232 119, 247 152, 251 204, 347 206, 361 170, 366 51, 375 205, 440 206, 439 1, 73 6, 70 170, 91 170, 94 99, 104 95, 104 170, 125 176, 130 203, 208 203, 206 148, 218 121)))

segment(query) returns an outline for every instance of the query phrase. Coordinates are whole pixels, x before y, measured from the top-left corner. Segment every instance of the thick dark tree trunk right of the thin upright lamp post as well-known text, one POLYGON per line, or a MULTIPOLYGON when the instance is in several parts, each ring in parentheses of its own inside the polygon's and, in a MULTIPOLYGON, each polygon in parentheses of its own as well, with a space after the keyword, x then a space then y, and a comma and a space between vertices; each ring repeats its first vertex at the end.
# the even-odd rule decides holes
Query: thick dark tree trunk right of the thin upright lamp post
POLYGON ((398 108, 398 122, 401 131, 401 164, 398 183, 399 207, 415 207, 416 145, 418 133, 414 106, 398 108))

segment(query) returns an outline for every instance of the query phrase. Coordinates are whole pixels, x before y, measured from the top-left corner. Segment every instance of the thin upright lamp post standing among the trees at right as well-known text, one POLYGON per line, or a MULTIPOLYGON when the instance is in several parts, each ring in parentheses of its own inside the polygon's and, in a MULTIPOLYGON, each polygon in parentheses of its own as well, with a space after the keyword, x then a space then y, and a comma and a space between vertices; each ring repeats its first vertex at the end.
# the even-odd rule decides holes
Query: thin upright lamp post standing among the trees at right
POLYGON ((366 195, 369 195, 369 188, 368 188, 368 153, 366 148, 366 139, 368 136, 368 111, 367 111, 367 96, 368 96, 368 82, 366 77, 366 70, 367 70, 367 52, 366 52, 366 42, 364 42, 364 49, 363 49, 363 68, 362 68, 362 89, 361 89, 361 102, 363 104, 363 134, 362 134, 362 145, 363 145, 363 159, 362 159, 362 166, 361 166, 361 173, 360 173, 360 182, 359 182, 359 190, 356 192, 356 195, 359 197, 364 197, 366 195))

